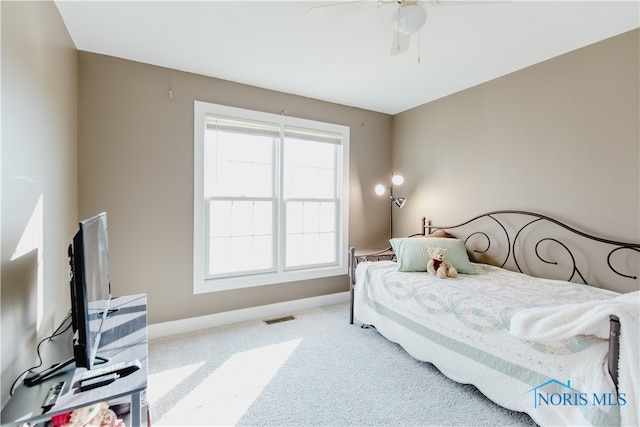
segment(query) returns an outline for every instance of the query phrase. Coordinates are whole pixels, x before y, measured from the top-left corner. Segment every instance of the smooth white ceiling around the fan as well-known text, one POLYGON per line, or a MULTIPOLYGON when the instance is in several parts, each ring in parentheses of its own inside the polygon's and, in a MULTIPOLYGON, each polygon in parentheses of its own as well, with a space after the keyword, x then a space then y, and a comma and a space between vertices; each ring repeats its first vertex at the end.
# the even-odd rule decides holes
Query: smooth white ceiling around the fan
POLYGON ((395 4, 318 14, 328 3, 56 1, 79 50, 388 114, 640 23, 637 0, 469 3, 420 1, 420 43, 414 34, 391 56, 395 4))

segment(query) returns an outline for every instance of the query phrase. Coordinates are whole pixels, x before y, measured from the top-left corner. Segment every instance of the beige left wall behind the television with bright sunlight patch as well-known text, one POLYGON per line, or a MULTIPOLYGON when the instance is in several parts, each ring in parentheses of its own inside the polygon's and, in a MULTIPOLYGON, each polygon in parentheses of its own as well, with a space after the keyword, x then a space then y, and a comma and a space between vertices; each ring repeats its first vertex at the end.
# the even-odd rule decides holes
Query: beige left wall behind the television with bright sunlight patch
POLYGON ((77 226, 77 51, 53 2, 2 13, 4 405, 36 361, 36 339, 69 310, 67 245, 77 226))

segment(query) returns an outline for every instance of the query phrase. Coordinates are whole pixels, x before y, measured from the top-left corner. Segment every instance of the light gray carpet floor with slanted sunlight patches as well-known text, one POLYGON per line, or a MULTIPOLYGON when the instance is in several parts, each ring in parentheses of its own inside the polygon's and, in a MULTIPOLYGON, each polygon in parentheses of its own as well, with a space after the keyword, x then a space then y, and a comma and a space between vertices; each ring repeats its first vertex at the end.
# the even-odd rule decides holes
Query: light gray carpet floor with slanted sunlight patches
POLYGON ((419 362, 348 304, 149 343, 152 424, 240 426, 530 426, 475 387, 419 362))

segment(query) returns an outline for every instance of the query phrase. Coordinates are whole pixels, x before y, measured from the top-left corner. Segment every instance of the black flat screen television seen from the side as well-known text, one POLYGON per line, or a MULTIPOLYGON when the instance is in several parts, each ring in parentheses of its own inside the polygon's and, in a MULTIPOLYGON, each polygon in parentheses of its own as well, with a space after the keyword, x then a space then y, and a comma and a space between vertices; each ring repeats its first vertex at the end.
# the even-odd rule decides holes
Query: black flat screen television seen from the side
POLYGON ((75 362, 76 367, 91 369, 97 360, 104 319, 111 302, 111 273, 107 214, 100 213, 80 221, 68 248, 73 327, 73 357, 45 371, 27 377, 28 386, 38 384, 75 362))

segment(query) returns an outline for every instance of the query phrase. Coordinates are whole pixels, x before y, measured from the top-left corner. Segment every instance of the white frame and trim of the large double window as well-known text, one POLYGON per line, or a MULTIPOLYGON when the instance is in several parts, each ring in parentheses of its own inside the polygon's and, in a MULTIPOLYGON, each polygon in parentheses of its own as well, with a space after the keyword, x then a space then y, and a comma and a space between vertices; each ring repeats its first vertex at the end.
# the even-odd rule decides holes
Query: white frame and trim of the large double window
MULTIPOLYGON (((314 120, 301 119, 297 117, 280 114, 265 113, 254 110, 247 110, 226 105, 212 104, 208 102, 194 102, 194 193, 193 193, 193 292, 194 294, 214 291, 224 291, 230 289, 241 289, 254 286, 272 285, 293 281, 303 281, 346 275, 348 272, 348 236, 349 236, 349 138, 350 128, 344 125, 318 122, 314 120), (277 269, 273 272, 256 273, 249 275, 237 275, 228 277, 207 278, 205 272, 205 197, 204 197, 204 131, 206 115, 221 115, 227 117, 237 117, 240 119, 257 120, 263 122, 278 123, 280 126, 295 126, 326 130, 340 133, 342 137, 341 164, 338 165, 340 215, 337 224, 336 248, 337 263, 330 266, 314 266, 307 268, 284 268, 284 243, 279 244, 277 269)), ((284 205, 281 195, 278 195, 277 203, 284 205)), ((281 210, 280 208, 277 210, 281 210)), ((284 242, 284 213, 274 218, 274 223, 279 221, 276 230, 277 239, 284 242), (279 230, 279 231, 278 231, 279 230)))

